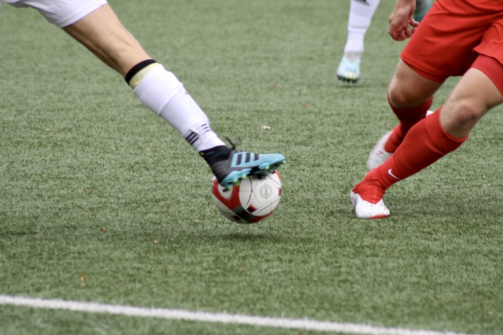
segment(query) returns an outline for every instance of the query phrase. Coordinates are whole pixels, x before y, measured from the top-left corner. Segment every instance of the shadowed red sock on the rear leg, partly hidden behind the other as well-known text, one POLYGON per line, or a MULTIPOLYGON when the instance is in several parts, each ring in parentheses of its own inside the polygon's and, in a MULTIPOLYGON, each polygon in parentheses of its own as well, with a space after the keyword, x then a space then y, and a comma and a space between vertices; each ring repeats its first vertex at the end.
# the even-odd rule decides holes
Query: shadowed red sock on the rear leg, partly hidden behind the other
POLYGON ((405 134, 407 134, 410 128, 412 128, 413 125, 426 117, 426 112, 433 103, 433 96, 431 96, 425 102, 414 107, 395 107, 391 104, 389 96, 388 103, 400 123, 395 127, 395 129, 393 129, 393 134, 391 134, 388 142, 386 142, 386 144, 384 145, 384 150, 386 150, 386 152, 395 152, 396 148, 400 145, 400 143, 402 143, 405 134))

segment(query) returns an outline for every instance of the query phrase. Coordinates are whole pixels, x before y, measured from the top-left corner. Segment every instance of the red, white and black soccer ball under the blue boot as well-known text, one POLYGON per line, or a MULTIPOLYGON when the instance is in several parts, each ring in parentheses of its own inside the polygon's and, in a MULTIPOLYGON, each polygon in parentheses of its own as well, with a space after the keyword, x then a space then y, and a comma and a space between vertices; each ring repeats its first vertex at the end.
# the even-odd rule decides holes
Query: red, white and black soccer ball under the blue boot
POLYGON ((278 171, 265 176, 250 175, 239 186, 220 186, 211 180, 211 197, 223 216, 239 224, 253 224, 271 215, 281 199, 281 178, 278 171))

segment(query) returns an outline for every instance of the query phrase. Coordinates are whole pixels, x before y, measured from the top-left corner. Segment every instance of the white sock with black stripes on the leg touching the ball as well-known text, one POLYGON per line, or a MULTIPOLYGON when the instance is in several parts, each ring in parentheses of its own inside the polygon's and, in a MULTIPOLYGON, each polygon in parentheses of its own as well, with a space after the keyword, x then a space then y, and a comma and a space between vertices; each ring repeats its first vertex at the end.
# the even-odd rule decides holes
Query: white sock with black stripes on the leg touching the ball
POLYGON ((133 93, 172 125, 198 152, 225 145, 211 130, 208 117, 183 84, 162 65, 152 67, 136 84, 133 93))

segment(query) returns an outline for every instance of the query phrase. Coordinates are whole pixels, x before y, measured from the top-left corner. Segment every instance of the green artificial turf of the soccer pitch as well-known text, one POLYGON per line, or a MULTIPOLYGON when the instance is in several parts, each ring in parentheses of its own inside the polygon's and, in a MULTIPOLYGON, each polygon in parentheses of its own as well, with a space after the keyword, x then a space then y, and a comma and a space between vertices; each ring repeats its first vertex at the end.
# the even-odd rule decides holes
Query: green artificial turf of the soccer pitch
MULTIPOLYGON (((4 5, 0 294, 503 334, 500 107, 392 186, 389 218, 354 216, 349 191, 396 123, 393 2, 377 9, 356 85, 335 75, 349 2, 110 3, 222 138, 286 156, 280 206, 256 225, 225 219, 206 163, 118 74, 4 5)), ((0 333, 321 332, 0 305, 0 333)))

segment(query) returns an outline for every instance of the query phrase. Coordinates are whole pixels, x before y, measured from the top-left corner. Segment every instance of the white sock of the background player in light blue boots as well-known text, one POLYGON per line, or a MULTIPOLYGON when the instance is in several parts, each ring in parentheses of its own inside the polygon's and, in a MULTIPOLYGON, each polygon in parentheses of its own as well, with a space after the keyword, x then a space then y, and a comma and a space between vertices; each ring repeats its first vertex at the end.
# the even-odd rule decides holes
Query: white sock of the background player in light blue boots
POLYGON ((380 0, 351 0, 344 52, 363 53, 363 39, 380 0))

